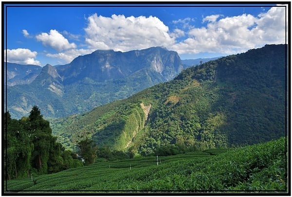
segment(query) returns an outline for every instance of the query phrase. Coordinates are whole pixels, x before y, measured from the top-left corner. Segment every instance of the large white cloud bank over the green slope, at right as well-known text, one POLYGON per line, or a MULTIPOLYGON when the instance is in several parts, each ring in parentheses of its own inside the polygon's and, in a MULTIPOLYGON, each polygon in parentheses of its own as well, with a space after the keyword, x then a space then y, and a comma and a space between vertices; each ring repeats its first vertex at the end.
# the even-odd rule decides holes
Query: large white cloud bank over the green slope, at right
POLYGON ((180 54, 216 52, 234 54, 262 47, 265 44, 285 43, 285 7, 272 7, 258 16, 243 14, 225 17, 206 16, 206 27, 192 28, 187 38, 172 49, 180 54))

